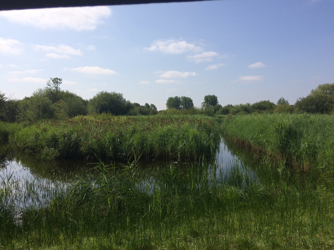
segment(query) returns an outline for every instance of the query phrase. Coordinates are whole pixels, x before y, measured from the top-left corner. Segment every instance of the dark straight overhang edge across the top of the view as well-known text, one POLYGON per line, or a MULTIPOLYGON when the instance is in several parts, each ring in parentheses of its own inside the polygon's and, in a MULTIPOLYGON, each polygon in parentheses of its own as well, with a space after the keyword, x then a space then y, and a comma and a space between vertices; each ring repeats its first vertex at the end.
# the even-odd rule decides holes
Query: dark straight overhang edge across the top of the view
POLYGON ((0 0, 0 10, 145 4, 145 3, 193 2, 193 1, 194 0, 0 0))

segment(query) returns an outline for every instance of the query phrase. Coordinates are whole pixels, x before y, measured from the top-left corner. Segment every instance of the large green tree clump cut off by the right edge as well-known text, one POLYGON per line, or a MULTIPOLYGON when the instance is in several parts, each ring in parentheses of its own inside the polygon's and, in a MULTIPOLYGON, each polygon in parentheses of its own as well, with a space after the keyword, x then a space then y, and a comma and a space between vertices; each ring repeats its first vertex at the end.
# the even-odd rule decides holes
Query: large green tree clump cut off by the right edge
POLYGON ((295 103, 299 112, 329 114, 334 107, 334 83, 322 84, 311 91, 307 97, 299 98, 295 103))

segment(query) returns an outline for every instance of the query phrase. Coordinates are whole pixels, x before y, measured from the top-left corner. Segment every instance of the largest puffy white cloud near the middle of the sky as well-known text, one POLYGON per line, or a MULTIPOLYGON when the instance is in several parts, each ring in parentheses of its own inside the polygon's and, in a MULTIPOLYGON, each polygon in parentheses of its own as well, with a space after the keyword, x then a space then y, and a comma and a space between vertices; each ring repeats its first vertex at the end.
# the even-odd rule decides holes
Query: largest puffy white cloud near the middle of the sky
POLYGON ((158 40, 152 43, 151 47, 145 48, 147 51, 160 51, 167 54, 181 54, 189 51, 198 52, 202 48, 186 41, 158 40))

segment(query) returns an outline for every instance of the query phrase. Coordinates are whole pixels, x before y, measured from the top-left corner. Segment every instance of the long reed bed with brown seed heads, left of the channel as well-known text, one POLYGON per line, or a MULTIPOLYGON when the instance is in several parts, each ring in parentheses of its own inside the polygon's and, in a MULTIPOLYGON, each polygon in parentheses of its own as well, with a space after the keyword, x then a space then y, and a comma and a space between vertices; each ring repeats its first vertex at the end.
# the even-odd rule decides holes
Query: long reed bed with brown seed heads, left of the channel
POLYGON ((214 121, 205 117, 108 114, 43 121, 14 136, 20 148, 41 159, 191 160, 210 155, 219 139, 214 121))

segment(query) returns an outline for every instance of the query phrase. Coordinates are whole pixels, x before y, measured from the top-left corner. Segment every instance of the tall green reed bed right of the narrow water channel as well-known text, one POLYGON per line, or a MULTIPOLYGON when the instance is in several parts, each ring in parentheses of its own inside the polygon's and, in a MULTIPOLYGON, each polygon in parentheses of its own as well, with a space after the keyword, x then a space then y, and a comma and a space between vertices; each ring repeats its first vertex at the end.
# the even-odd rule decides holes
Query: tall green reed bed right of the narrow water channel
POLYGON ((222 124, 226 137, 266 151, 285 166, 333 169, 334 116, 261 114, 235 116, 222 124))

